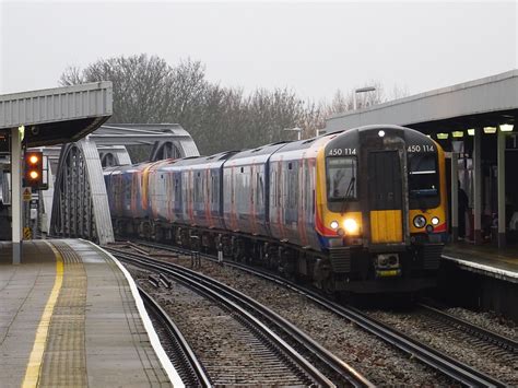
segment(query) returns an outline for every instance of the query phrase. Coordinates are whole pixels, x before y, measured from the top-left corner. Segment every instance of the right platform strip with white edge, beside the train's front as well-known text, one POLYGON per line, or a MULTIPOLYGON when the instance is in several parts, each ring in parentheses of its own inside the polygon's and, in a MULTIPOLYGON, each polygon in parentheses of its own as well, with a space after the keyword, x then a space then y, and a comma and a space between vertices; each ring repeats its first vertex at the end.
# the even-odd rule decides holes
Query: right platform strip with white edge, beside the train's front
POLYGON ((493 245, 456 243, 445 246, 443 259, 464 270, 518 283, 518 246, 497 248, 493 245))

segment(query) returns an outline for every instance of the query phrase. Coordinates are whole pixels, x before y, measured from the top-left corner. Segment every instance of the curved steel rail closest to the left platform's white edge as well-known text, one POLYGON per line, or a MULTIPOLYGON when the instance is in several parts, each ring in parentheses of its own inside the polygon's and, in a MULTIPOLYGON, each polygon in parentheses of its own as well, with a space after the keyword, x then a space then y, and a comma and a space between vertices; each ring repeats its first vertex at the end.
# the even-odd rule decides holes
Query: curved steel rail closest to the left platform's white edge
MULTIPOLYGON (((167 313, 156 303, 156 301, 148 294, 144 290, 138 286, 139 293, 144 302, 144 305, 152 310, 160 322, 167 331, 175 348, 176 357, 178 360, 178 368, 181 371, 181 377, 186 386, 212 387, 205 369, 190 348, 189 343, 181 334, 181 331, 169 318, 167 313)), ((176 366, 176 365, 175 365, 176 366)), ((180 371, 178 373, 180 373, 180 371)))

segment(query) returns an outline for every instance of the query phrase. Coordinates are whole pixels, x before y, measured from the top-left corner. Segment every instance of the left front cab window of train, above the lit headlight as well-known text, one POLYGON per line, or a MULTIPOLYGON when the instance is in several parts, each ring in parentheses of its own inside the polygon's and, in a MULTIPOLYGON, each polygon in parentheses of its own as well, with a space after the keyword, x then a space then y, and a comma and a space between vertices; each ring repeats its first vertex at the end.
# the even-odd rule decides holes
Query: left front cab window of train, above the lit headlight
POLYGON ((356 173, 355 156, 327 158, 327 189, 330 201, 356 199, 356 173))

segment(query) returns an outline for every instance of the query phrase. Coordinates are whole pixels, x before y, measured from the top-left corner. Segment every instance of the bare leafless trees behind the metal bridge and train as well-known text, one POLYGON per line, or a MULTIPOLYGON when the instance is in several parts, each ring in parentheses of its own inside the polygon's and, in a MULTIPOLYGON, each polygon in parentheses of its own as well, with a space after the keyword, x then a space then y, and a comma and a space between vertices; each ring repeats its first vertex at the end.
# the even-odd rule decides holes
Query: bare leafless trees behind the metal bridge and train
MULTIPOLYGON (((201 153, 255 148, 280 140, 294 140, 285 128, 299 127, 311 138, 326 118, 353 109, 353 94, 337 90, 331 103, 304 102, 289 89, 258 89, 245 95, 242 89, 224 87, 205 80, 200 61, 183 60, 170 67, 148 55, 101 59, 84 70, 67 68, 61 85, 108 80, 114 84, 113 122, 177 122, 190 132, 201 153)), ((357 106, 386 101, 380 82, 376 91, 357 95, 357 106)), ((393 95, 405 91, 396 89, 393 95)))

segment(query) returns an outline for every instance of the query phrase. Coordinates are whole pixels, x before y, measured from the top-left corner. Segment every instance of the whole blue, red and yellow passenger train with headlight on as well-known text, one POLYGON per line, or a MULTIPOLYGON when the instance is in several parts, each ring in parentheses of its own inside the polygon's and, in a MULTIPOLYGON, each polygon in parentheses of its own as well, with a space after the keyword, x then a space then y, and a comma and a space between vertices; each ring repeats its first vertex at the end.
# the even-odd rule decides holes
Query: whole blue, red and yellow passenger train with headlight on
POLYGON ((447 238, 445 153, 365 126, 104 171, 117 236, 222 251, 326 293, 433 287, 447 238))

